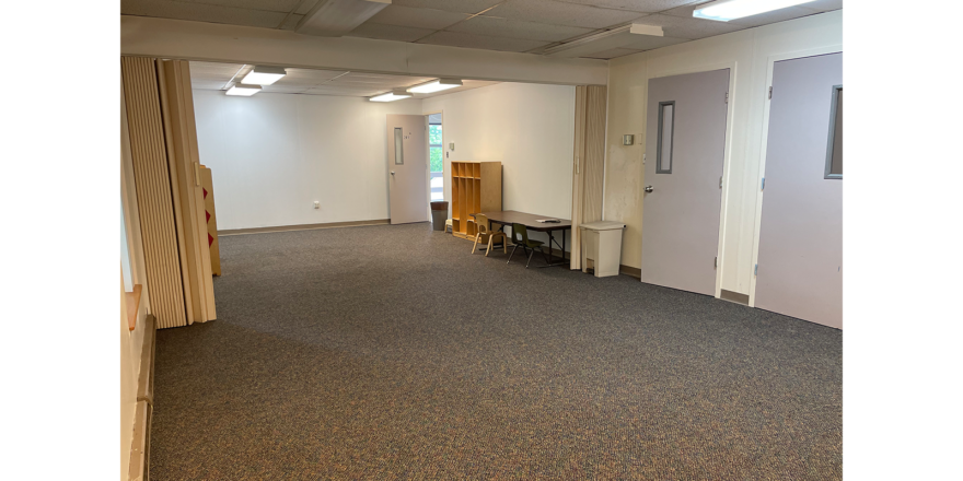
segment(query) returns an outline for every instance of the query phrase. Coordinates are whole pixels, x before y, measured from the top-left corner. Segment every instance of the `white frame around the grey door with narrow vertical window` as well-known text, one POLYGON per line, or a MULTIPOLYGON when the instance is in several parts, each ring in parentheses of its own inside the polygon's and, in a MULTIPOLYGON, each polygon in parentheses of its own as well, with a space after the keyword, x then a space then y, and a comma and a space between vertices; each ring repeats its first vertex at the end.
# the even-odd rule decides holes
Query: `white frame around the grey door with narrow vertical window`
MULTIPOLYGON (((691 73, 705 73, 705 72, 713 72, 716 70, 726 70, 729 69, 729 104, 726 108, 726 151, 722 157, 722 189, 719 192, 722 196, 722 209, 719 212, 719 247, 716 251, 716 255, 719 257, 719 266, 716 269, 716 298, 722 298, 722 277, 723 269, 726 269, 726 262, 723 261, 724 256, 722 255, 726 251, 726 234, 727 234, 727 222, 726 219, 729 216, 729 189, 732 183, 730 181, 732 176, 732 132, 735 124, 735 109, 732 108, 735 105, 736 101, 736 92, 739 92, 736 85, 736 79, 739 73, 739 61, 728 61, 728 62, 718 62, 718 63, 707 63, 699 67, 693 67, 689 69, 680 69, 680 70, 668 70, 664 72, 659 72, 657 74, 650 75, 646 79, 646 106, 645 112, 649 112, 649 81, 653 79, 663 79, 666 77, 676 77, 676 75, 687 75, 691 73)), ((646 149, 649 148, 648 143, 651 142, 652 139, 646 139, 646 149)), ((658 141, 658 140, 657 140, 658 141)), ((649 160, 646 156, 645 151, 642 152, 642 175, 639 178, 646 178, 646 165, 648 165, 649 160)), ((655 159, 652 162, 657 162, 655 159)), ((648 180, 643 181, 646 184, 648 180)), ((645 209, 645 200, 642 201, 642 230, 646 228, 646 209, 645 209)), ((639 246, 639 250, 642 250, 642 246, 639 246)))

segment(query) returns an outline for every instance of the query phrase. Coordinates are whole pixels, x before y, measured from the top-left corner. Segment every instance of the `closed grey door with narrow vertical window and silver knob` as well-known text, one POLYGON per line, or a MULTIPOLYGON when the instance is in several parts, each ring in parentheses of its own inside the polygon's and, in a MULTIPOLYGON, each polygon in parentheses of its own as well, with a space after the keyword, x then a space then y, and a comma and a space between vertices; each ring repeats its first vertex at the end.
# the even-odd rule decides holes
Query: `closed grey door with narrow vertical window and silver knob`
POLYGON ((649 81, 642 282, 716 295, 728 93, 728 69, 649 81))

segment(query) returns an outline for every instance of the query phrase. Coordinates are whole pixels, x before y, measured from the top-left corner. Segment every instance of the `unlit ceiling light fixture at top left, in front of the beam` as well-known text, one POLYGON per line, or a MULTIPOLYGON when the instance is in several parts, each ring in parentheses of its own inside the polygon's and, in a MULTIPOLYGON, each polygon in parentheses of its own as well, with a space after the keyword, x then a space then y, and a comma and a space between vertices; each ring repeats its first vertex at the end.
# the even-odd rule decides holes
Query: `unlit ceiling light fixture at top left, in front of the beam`
POLYGON ((343 37, 378 12, 392 0, 322 0, 294 30, 302 35, 343 37))

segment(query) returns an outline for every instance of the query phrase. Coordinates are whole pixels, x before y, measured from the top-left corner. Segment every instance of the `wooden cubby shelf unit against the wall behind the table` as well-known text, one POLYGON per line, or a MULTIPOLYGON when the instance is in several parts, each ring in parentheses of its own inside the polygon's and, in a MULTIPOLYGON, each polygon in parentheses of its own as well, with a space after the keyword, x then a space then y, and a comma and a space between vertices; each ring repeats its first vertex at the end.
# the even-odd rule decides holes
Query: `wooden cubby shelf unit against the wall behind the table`
POLYGON ((455 237, 474 241, 472 214, 502 210, 501 162, 453 162, 451 176, 452 231, 455 237))

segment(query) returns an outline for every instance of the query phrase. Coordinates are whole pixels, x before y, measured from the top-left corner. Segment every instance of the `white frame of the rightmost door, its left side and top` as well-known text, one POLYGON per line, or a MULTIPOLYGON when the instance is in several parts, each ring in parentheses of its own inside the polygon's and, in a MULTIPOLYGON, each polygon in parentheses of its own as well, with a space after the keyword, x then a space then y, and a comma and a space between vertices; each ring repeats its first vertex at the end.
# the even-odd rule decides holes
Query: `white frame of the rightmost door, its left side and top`
MULTIPOLYGON (((767 58, 766 89, 765 89, 765 107, 763 108, 763 139, 762 139, 762 157, 759 160, 759 177, 756 188, 759 195, 756 196, 756 222, 753 235, 753 266, 759 265, 759 244, 763 233, 763 203, 765 201, 766 191, 763 189, 763 179, 766 178, 766 164, 769 156, 769 114, 773 108, 773 101, 769 98, 769 89, 773 87, 773 81, 776 77, 776 63, 786 60, 798 60, 809 57, 820 57, 824 55, 844 54, 846 51, 845 44, 832 45, 828 47, 810 48, 805 50, 794 50, 786 54, 771 55, 767 58)), ((756 306, 756 286, 759 277, 753 271, 752 282, 750 282, 749 306, 756 306)))

